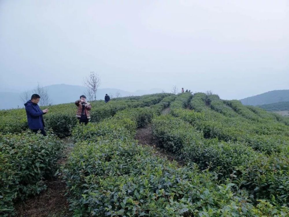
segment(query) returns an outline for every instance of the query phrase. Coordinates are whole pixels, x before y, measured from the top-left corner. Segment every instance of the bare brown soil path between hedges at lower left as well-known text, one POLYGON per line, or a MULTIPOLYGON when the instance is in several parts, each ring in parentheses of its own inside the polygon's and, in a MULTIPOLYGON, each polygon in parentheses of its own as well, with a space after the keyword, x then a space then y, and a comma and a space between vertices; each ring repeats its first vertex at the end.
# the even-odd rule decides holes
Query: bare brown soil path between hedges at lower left
MULTIPOLYGON (((71 152, 73 143, 65 138, 63 139, 65 149, 63 156, 58 160, 58 164, 64 165, 68 154, 71 152)), ((70 217, 69 204, 65 194, 66 183, 62 177, 58 176, 53 180, 46 181, 47 190, 39 195, 29 198, 26 201, 16 205, 16 216, 21 217, 70 217)))

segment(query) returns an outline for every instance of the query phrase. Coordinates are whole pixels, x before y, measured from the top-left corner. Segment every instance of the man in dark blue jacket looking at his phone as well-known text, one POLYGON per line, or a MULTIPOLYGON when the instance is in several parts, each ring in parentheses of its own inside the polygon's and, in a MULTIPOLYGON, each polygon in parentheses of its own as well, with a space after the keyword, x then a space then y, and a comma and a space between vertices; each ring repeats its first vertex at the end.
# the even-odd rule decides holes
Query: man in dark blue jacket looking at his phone
POLYGON ((40 96, 38 94, 33 94, 31 96, 31 100, 28 100, 25 105, 28 127, 34 133, 37 133, 38 130, 41 131, 41 134, 46 136, 46 132, 44 130, 44 121, 43 121, 43 114, 48 112, 48 108, 41 111, 38 106, 38 102, 40 100, 40 96))

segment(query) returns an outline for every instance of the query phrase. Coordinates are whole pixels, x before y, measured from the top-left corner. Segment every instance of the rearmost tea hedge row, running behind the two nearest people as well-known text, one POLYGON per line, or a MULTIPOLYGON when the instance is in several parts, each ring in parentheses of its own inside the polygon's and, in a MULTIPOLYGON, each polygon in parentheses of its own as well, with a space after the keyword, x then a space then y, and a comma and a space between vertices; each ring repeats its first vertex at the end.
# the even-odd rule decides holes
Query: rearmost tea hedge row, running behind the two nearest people
MULTIPOLYGON (((92 101, 91 122, 99 122, 105 118, 112 117, 117 111, 126 108, 145 107, 157 104, 163 98, 172 96, 169 93, 151 94, 140 97, 128 97, 123 100, 111 100, 104 103, 102 100, 92 101)), ((41 107, 45 109, 46 107, 41 107)), ((43 115, 46 129, 51 129, 59 137, 71 135, 72 128, 78 122, 75 117, 77 107, 74 103, 53 105, 49 113, 43 115)), ((0 132, 19 133, 26 130, 27 117, 25 109, 10 109, 0 111, 0 132)))

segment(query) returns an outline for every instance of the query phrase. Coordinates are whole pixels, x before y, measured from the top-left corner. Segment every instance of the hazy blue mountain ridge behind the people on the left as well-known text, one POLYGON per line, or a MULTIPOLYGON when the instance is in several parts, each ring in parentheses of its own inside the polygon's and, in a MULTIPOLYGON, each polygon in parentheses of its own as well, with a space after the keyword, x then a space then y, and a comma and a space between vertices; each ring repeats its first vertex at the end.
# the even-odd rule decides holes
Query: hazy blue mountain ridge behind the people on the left
MULTIPOLYGON (((85 94, 86 87, 80 85, 68 85, 68 84, 53 84, 47 87, 47 92, 51 98, 52 104, 61 104, 74 102, 79 99, 80 95, 85 94)), ((98 89, 96 93, 97 100, 104 100, 104 96, 107 93, 112 98, 116 96, 116 93, 119 93, 121 97, 125 96, 136 96, 136 95, 145 95, 153 93, 161 93, 162 89, 150 89, 150 90, 137 90, 134 92, 123 91, 121 89, 114 88, 103 88, 98 89)), ((20 99, 20 96, 23 93, 14 93, 14 92, 0 92, 0 97, 3 100, 3 103, 0 104, 0 109, 10 109, 10 108, 19 108, 24 107, 24 103, 20 99)), ((41 97, 41 96, 40 96, 41 97)))

